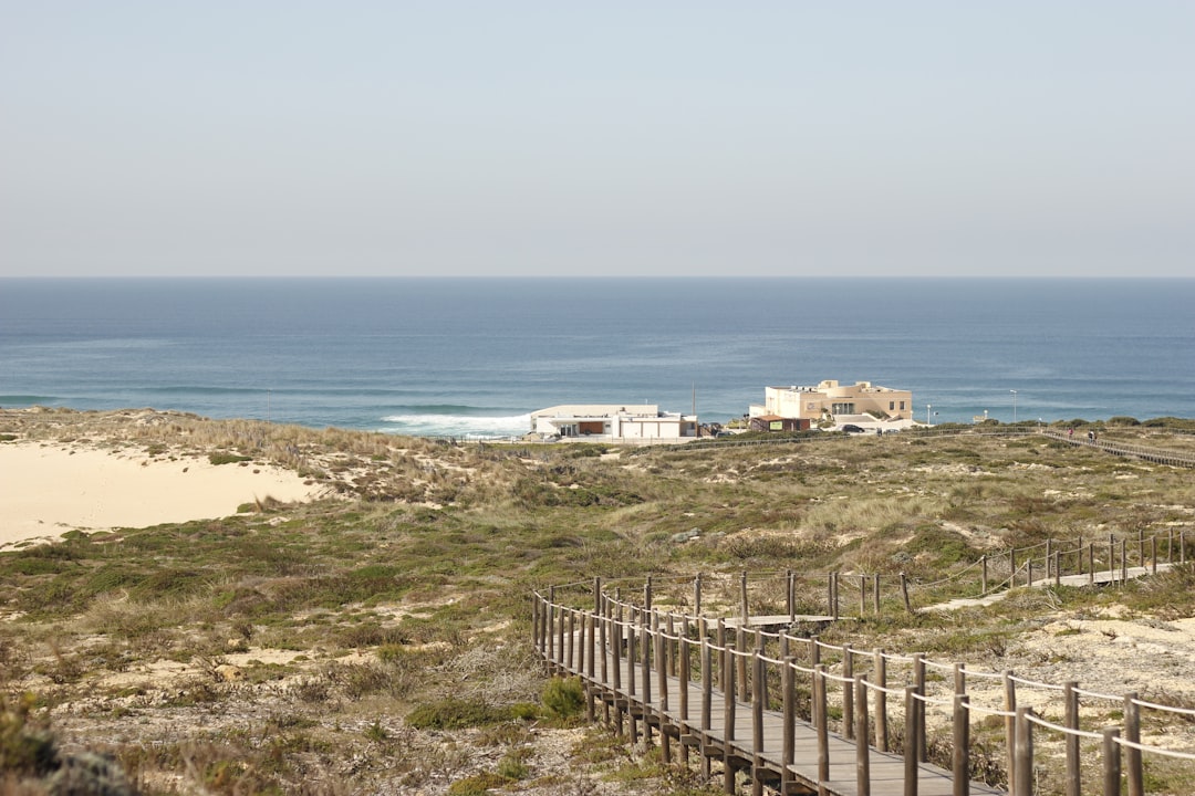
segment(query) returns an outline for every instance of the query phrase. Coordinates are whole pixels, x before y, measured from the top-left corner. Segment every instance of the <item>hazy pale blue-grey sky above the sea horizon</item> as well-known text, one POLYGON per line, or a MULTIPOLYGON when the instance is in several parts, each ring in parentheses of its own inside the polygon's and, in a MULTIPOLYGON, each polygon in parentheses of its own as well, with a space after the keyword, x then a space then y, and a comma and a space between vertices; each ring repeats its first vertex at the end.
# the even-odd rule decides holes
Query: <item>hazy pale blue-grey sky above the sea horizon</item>
POLYGON ((1195 276, 1195 2, 0 0, 0 276, 1195 276))

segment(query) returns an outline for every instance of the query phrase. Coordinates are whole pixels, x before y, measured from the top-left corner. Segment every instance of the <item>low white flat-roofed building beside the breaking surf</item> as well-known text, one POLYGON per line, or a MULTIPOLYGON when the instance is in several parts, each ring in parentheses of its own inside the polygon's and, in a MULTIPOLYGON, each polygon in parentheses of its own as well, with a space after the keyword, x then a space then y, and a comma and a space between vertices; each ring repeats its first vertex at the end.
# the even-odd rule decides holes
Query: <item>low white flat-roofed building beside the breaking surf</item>
POLYGON ((697 415, 661 412, 654 403, 566 403, 532 412, 531 430, 545 437, 680 440, 697 437, 697 415))

